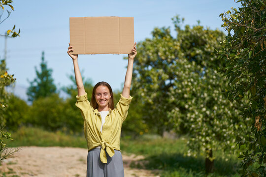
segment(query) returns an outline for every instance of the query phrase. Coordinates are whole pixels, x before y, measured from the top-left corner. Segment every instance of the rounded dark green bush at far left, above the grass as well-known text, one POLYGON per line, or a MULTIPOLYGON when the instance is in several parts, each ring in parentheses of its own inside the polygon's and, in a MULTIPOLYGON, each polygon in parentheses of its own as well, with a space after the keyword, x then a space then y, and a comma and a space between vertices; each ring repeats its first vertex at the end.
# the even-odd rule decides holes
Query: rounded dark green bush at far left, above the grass
POLYGON ((26 123, 29 106, 24 100, 14 94, 9 95, 7 104, 8 107, 3 112, 6 121, 5 128, 14 131, 26 123))

